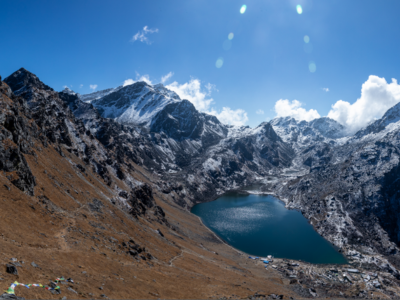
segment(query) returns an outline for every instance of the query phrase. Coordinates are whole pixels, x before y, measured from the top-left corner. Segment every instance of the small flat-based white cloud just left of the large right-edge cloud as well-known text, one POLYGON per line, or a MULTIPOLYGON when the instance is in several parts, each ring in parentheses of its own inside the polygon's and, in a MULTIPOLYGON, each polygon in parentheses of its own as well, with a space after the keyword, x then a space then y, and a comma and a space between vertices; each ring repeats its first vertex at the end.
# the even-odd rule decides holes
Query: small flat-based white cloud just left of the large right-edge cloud
POLYGON ((312 121, 321 116, 315 109, 306 110, 302 108, 303 104, 298 100, 280 99, 275 103, 275 112, 277 117, 292 117, 296 120, 312 121))

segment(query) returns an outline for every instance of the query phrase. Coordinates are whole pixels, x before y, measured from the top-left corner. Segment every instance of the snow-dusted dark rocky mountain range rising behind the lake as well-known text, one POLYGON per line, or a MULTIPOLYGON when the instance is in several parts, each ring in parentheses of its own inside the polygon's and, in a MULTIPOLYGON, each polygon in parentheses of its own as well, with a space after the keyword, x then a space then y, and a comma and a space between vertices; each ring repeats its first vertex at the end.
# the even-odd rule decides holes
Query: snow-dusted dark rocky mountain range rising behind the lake
MULTIPOLYGON (((107 205, 163 228, 173 216, 162 206, 187 210, 261 182, 360 266, 400 278, 399 104, 348 135, 327 117, 226 125, 146 82, 79 95, 56 92, 22 68, 4 79, 2 91, 1 170, 30 197, 44 196, 32 160, 44 159, 47 148, 82 182, 96 182, 107 205)), ((65 191, 71 199, 74 189, 65 191)))

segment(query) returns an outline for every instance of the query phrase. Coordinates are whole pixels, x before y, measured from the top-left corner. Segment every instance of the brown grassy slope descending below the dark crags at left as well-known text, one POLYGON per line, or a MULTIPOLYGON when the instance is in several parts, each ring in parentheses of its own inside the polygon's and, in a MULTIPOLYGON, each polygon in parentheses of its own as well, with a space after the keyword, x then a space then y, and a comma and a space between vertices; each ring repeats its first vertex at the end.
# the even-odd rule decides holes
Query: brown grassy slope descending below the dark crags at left
MULTIPOLYGON (((221 243, 196 216, 177 207, 156 187, 155 200, 171 227, 158 223, 151 214, 135 219, 120 210, 110 202, 114 190, 90 167, 85 173, 74 167, 84 165, 74 154, 63 151, 62 157, 52 146, 34 142, 36 155, 25 154, 25 158, 36 177, 35 196, 13 186, 6 177, 9 173, 0 173, 2 291, 15 280, 46 284, 64 276, 76 283, 61 285, 61 296, 73 299, 100 298, 102 294, 125 299, 245 298, 255 292, 292 295, 277 274, 266 272, 221 243), (102 205, 96 207, 93 199, 102 205), (130 239, 154 258, 142 260, 127 254, 123 242, 130 239), (12 257, 24 262, 18 276, 6 273, 12 257)), ((130 175, 151 184, 151 175, 134 167, 136 171, 130 175)), ((113 182, 127 189, 117 178, 113 182)), ((40 288, 17 287, 16 294, 60 298, 40 288)))

